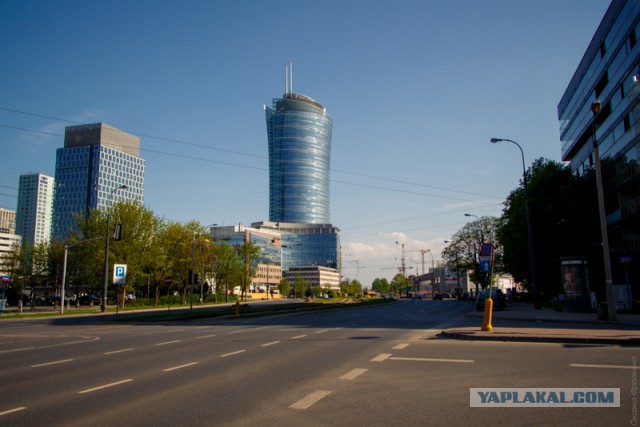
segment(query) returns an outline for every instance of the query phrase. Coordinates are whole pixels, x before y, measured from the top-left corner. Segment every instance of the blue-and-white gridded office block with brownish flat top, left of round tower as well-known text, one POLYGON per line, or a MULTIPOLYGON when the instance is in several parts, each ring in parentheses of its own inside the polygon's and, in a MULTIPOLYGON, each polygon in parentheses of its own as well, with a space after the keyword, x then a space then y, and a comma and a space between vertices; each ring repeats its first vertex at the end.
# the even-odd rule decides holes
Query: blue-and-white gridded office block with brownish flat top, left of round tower
POLYGON ((75 216, 91 209, 142 203, 144 167, 139 137, 105 123, 67 127, 64 148, 56 153, 54 238, 65 239, 76 227, 75 216))

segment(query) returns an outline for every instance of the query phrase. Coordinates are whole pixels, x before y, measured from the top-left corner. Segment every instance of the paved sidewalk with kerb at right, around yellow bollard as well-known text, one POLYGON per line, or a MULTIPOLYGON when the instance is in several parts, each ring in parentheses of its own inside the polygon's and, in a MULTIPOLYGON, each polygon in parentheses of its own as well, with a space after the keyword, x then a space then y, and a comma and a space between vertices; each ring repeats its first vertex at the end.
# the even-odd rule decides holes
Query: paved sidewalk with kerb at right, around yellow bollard
POLYGON ((494 311, 491 332, 482 331, 484 313, 473 311, 466 317, 477 326, 450 328, 443 338, 480 341, 520 341, 590 343, 640 346, 640 315, 618 314, 617 322, 596 319, 596 313, 565 313, 534 310, 532 304, 513 303, 504 311, 494 311))

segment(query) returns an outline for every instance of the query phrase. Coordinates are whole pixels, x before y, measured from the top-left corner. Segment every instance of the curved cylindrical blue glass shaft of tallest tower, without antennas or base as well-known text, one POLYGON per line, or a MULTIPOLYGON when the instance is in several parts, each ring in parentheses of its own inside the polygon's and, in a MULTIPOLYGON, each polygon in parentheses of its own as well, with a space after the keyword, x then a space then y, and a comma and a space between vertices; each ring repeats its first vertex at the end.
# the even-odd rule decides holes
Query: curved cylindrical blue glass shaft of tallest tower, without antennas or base
POLYGON ((333 122, 313 99, 285 93, 265 107, 269 220, 327 224, 333 122))

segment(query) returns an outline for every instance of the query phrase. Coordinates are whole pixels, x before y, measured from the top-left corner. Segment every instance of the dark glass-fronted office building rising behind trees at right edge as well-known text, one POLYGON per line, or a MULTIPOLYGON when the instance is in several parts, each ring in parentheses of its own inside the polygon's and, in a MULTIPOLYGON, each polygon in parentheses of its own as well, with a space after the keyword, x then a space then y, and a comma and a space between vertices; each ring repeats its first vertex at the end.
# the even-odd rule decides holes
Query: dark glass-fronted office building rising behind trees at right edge
POLYGON ((611 2, 562 96, 558 118, 562 160, 579 174, 595 167, 595 137, 602 159, 613 283, 631 284, 638 292, 640 1, 611 2), (596 100, 602 107, 594 126, 591 106, 596 100))

